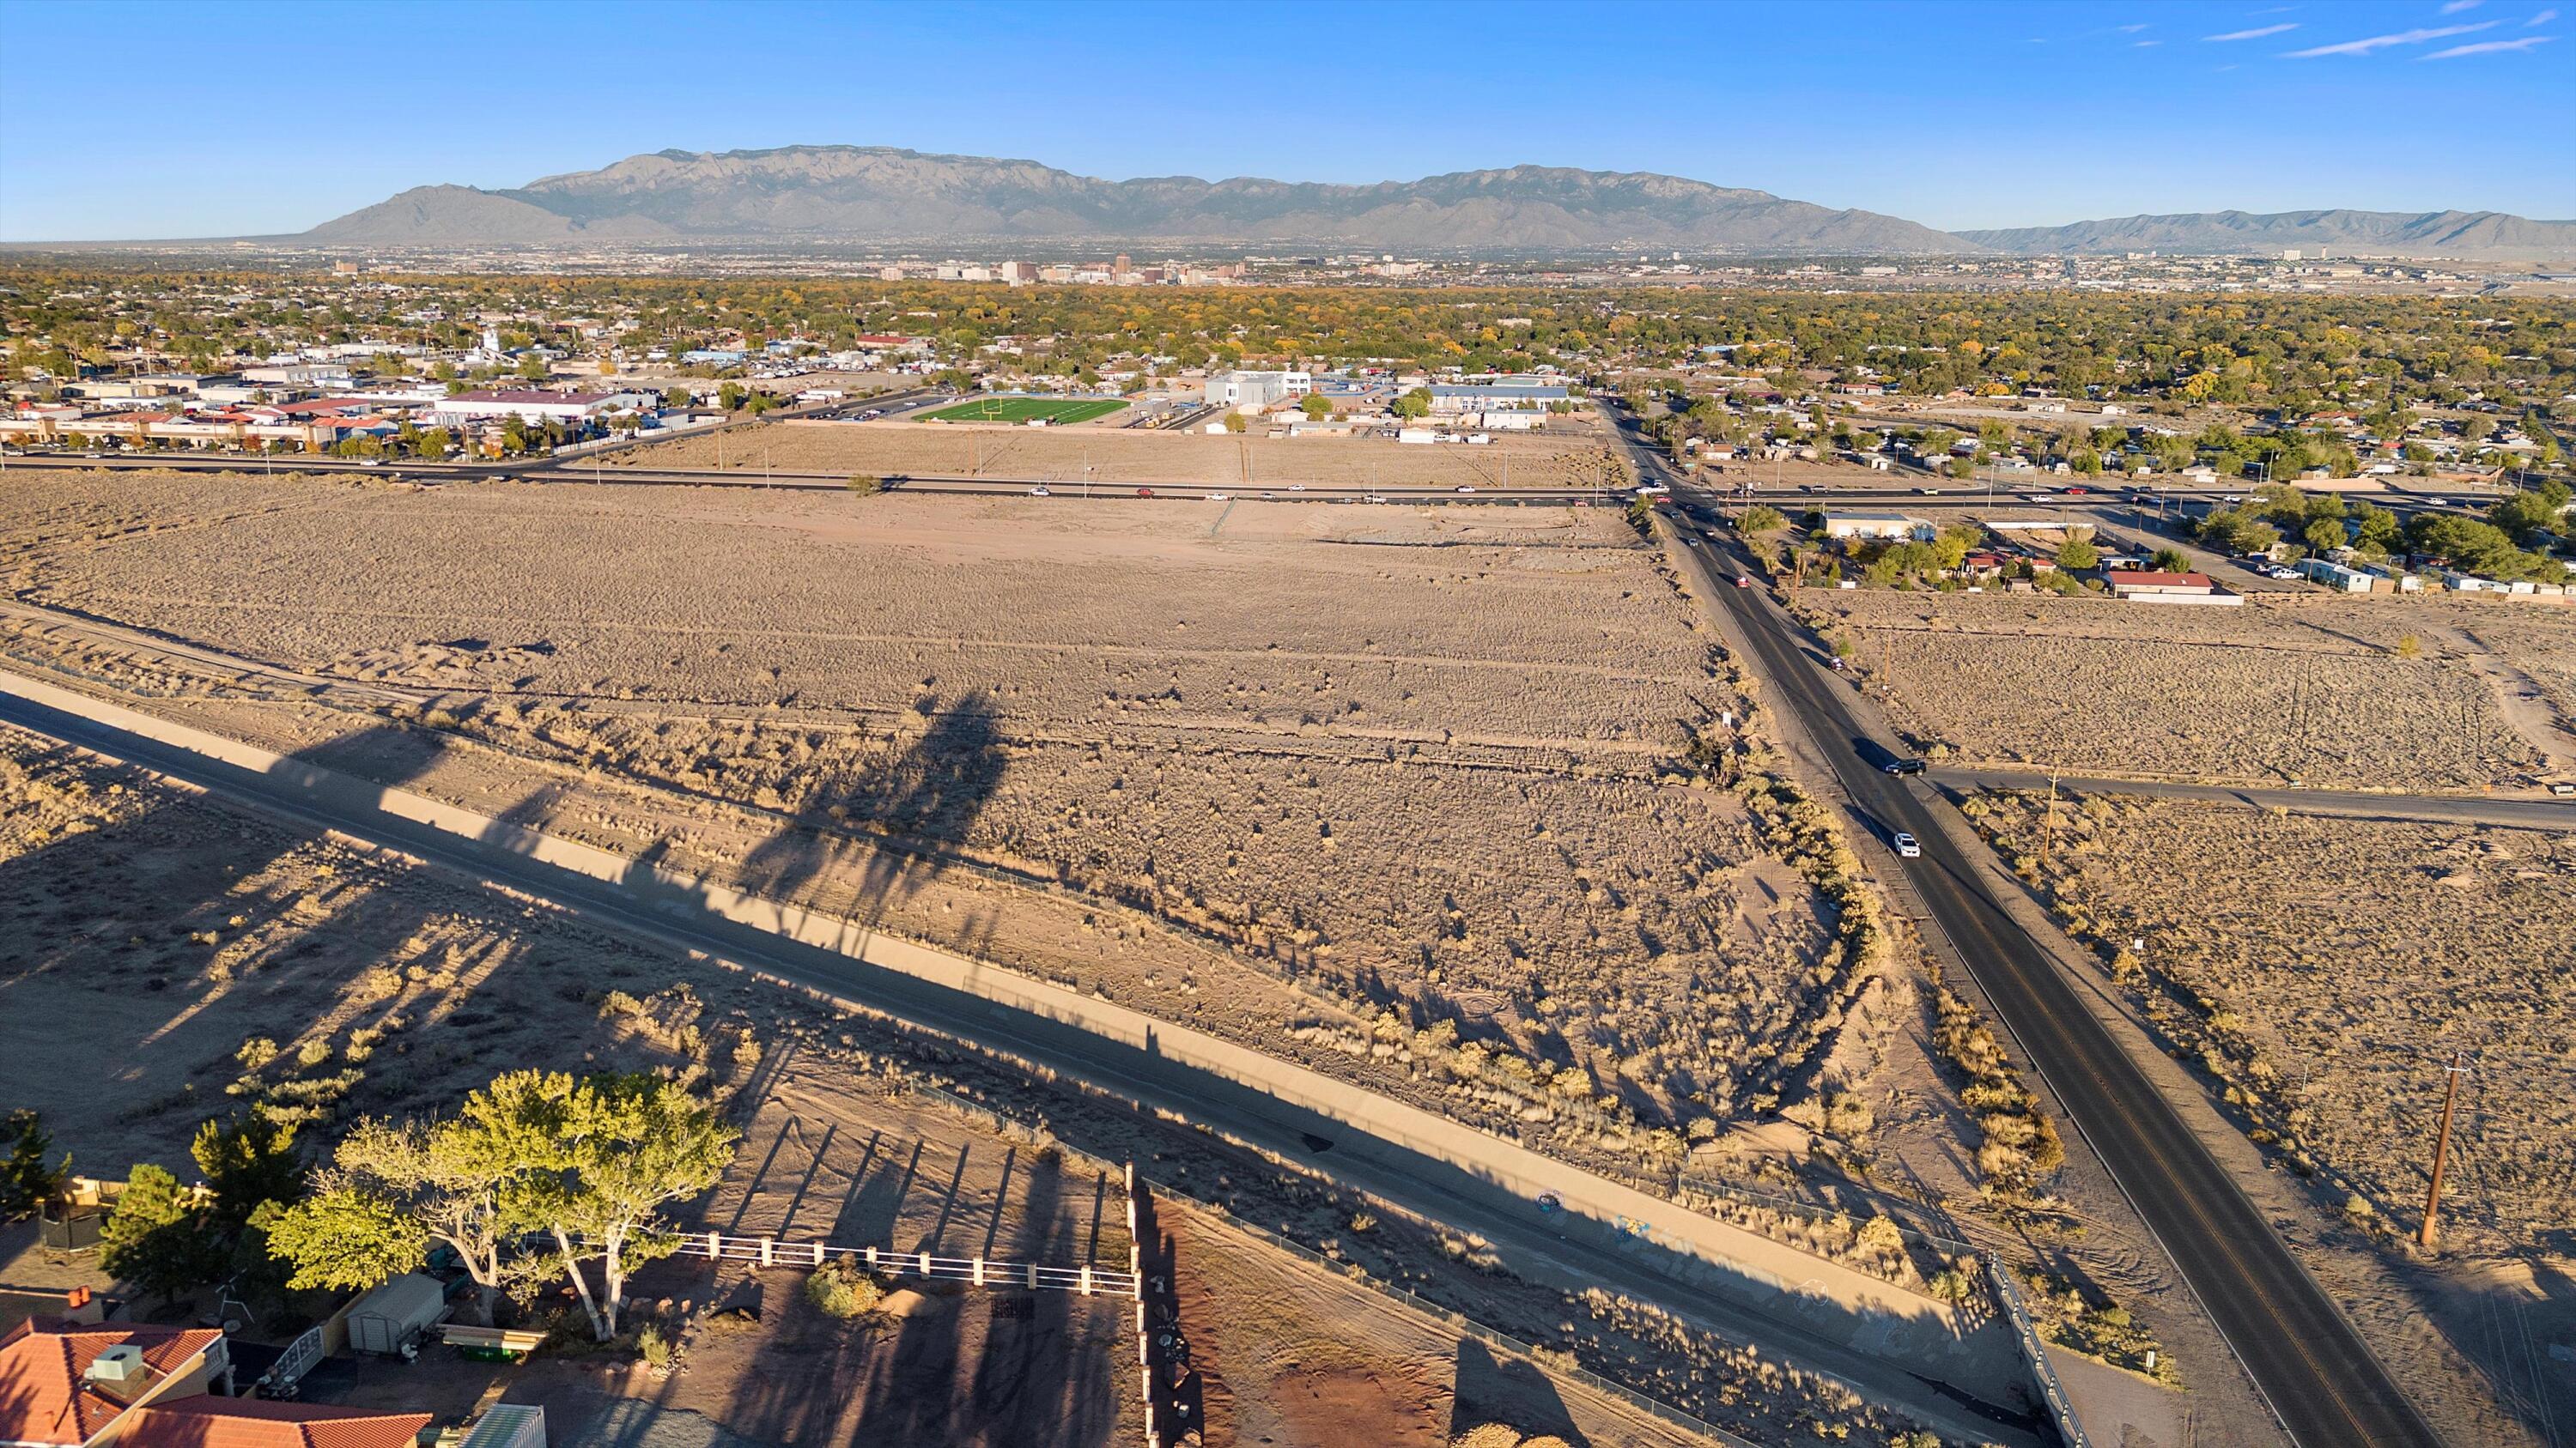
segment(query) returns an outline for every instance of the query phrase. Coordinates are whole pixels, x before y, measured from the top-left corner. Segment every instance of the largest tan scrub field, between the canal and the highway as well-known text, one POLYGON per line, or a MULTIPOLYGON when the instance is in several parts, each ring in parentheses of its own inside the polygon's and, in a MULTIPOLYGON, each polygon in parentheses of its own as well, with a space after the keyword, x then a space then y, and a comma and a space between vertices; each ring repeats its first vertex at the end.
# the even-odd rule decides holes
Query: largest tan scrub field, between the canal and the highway
POLYGON ((5 518, 28 603, 402 688, 407 737, 538 770, 510 804, 649 791, 768 894, 912 933, 914 863, 1005 881, 945 946, 1030 891, 1115 907, 1056 933, 1066 969, 1195 992, 1121 974, 1139 915, 1360 1028, 1193 1020, 1533 1141, 1669 1162, 1783 1105, 1870 956, 1788 806, 1687 763, 1744 703, 1607 510, 49 487, 5 518), (711 843, 711 809, 770 835, 711 843))

